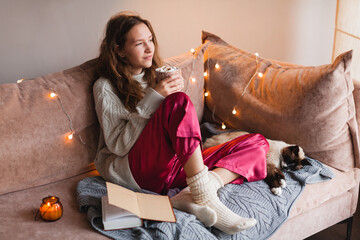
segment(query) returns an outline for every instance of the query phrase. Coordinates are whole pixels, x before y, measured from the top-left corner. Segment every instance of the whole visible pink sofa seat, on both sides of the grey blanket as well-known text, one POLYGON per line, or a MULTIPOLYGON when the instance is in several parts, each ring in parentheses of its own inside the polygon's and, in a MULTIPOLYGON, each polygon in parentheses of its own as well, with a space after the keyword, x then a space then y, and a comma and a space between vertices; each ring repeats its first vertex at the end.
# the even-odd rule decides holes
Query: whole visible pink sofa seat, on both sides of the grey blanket
MULTIPOLYGON (((290 212, 295 218, 303 212, 318 207, 329 199, 344 194, 355 184, 354 172, 340 172, 328 182, 309 184, 290 212), (336 189, 337 191, 335 191, 336 189)), ((91 227, 87 215, 79 211, 76 186, 81 179, 97 176, 96 171, 81 174, 44 186, 0 196, 0 239, 108 239, 91 227), (43 197, 58 196, 64 207, 61 219, 55 222, 35 221, 35 214, 43 197), (18 231, 19 226, 21 231, 18 231), (81 236, 81 237, 79 237, 81 236)))

